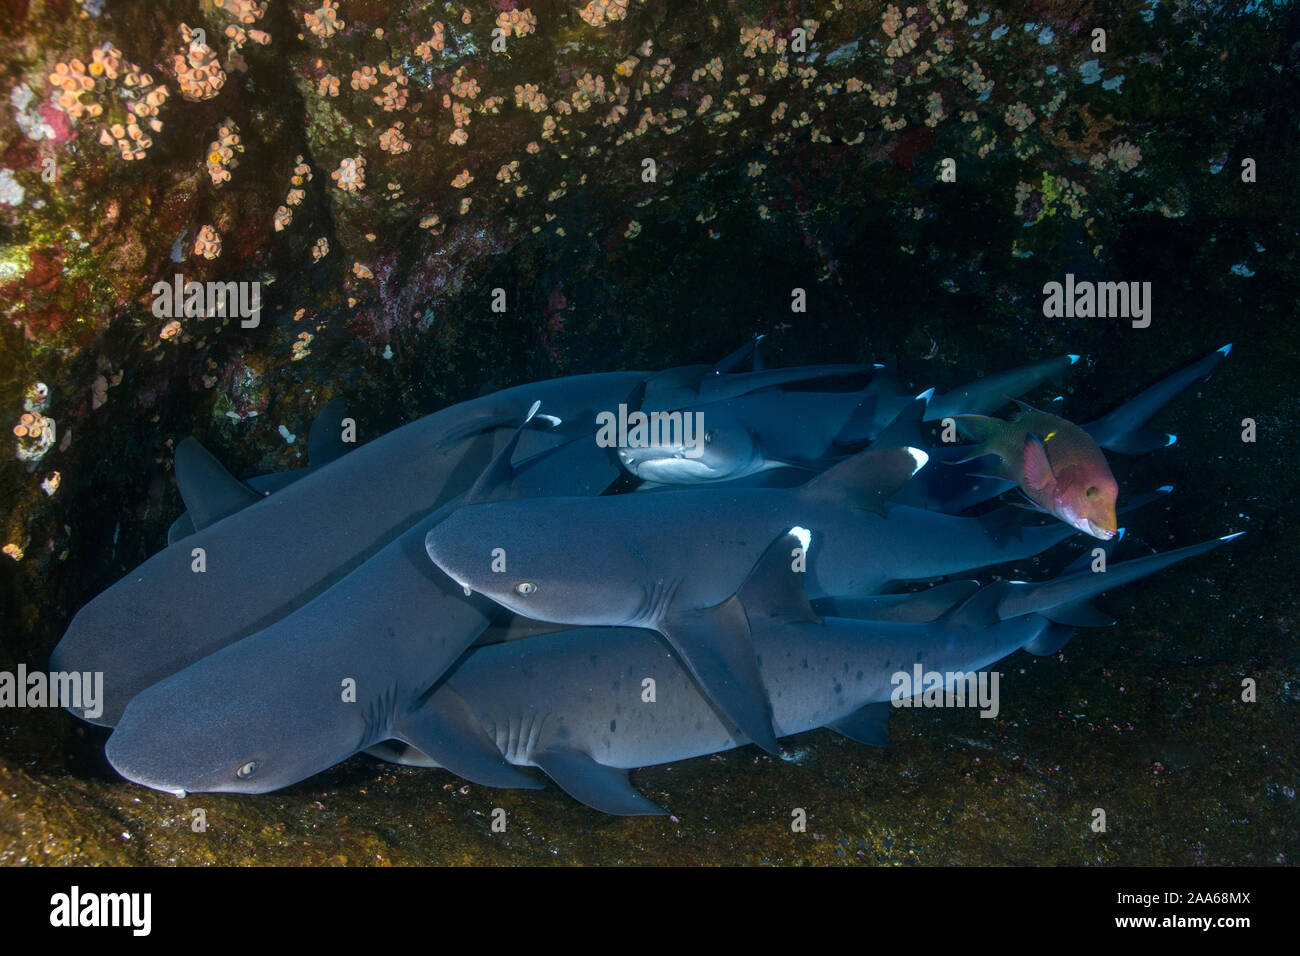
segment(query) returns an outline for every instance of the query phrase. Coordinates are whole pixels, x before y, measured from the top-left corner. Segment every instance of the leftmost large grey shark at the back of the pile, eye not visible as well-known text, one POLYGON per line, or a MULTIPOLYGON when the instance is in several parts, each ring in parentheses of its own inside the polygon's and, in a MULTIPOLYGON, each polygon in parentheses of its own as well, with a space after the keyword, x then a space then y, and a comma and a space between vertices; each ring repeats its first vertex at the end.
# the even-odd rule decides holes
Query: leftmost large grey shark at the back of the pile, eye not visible
MULTIPOLYGON (((196 444, 182 442, 178 483, 194 533, 82 607, 49 666, 104 672, 103 713, 91 722, 112 726, 150 684, 303 606, 463 493, 498 450, 500 429, 515 428, 537 401, 547 412, 540 420, 559 433, 530 432, 525 453, 590 433, 595 412, 619 403, 667 410, 866 368, 693 365, 521 385, 426 415, 304 470, 268 496, 235 480, 196 444)), ((90 719, 84 710, 74 713, 90 719)))

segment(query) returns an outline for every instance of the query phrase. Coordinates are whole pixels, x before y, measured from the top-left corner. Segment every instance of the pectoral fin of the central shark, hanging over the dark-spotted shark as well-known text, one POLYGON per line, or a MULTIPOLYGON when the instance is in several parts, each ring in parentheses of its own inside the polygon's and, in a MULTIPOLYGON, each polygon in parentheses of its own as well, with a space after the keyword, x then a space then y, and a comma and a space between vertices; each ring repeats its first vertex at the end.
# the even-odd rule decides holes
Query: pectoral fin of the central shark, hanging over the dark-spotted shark
POLYGON ((736 594, 712 607, 670 614, 659 624, 659 633, 699 682, 705 696, 741 734, 768 753, 780 753, 749 619, 736 594))

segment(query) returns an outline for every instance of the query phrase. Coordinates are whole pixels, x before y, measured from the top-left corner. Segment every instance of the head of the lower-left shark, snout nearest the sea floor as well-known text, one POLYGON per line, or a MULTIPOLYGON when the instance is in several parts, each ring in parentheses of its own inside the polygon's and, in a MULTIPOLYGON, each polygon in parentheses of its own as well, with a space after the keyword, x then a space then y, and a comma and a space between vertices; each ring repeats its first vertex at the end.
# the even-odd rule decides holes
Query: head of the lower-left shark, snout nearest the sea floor
POLYGON ((136 695, 105 747, 117 773, 172 793, 266 793, 347 758, 368 735, 382 739, 376 709, 346 700, 350 675, 265 635, 136 695))

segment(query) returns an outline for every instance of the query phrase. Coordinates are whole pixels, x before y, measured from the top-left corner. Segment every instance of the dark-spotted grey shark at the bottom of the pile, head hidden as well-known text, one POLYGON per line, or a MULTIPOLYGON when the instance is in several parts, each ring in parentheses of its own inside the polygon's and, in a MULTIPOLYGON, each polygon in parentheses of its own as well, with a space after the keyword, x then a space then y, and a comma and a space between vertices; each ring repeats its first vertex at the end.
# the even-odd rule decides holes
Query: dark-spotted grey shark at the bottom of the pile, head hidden
MULTIPOLYGON (((788 736, 829 727, 883 747, 890 701, 900 696, 898 674, 910 676, 919 666, 942 675, 940 689, 957 691, 965 675, 1022 648, 1054 653, 1072 628, 1053 617, 1225 540, 1043 584, 1000 583, 974 594, 966 583, 957 591, 942 585, 946 593, 937 604, 932 592, 894 598, 880 615, 885 620, 816 618, 789 570, 788 549, 797 542, 785 542, 755 567, 742 591, 776 731, 788 736), (918 619, 946 606, 952 609, 935 620, 918 619)), ((863 609, 861 601, 853 604, 863 609)), ((627 770, 751 743, 718 713, 680 661, 637 628, 577 628, 477 648, 445 688, 468 706, 506 760, 542 767, 571 796, 606 813, 660 813, 630 787, 627 770)), ((437 765, 417 754, 394 756, 437 765)))

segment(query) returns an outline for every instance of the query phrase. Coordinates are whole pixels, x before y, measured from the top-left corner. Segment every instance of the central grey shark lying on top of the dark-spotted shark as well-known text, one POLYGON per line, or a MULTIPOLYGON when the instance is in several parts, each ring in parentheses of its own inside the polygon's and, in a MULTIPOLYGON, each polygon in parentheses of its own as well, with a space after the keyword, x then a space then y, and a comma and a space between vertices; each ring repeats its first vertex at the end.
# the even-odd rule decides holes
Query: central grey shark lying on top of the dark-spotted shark
POLYGON ((776 749, 754 662, 741 581, 783 529, 823 536, 811 597, 879 592, 1024 558, 1072 535, 884 501, 915 472, 916 454, 857 455, 796 489, 690 489, 472 505, 425 538, 452 579, 528 618, 630 626, 662 633, 737 727, 776 749), (500 549, 504 564, 493 562, 500 549))

